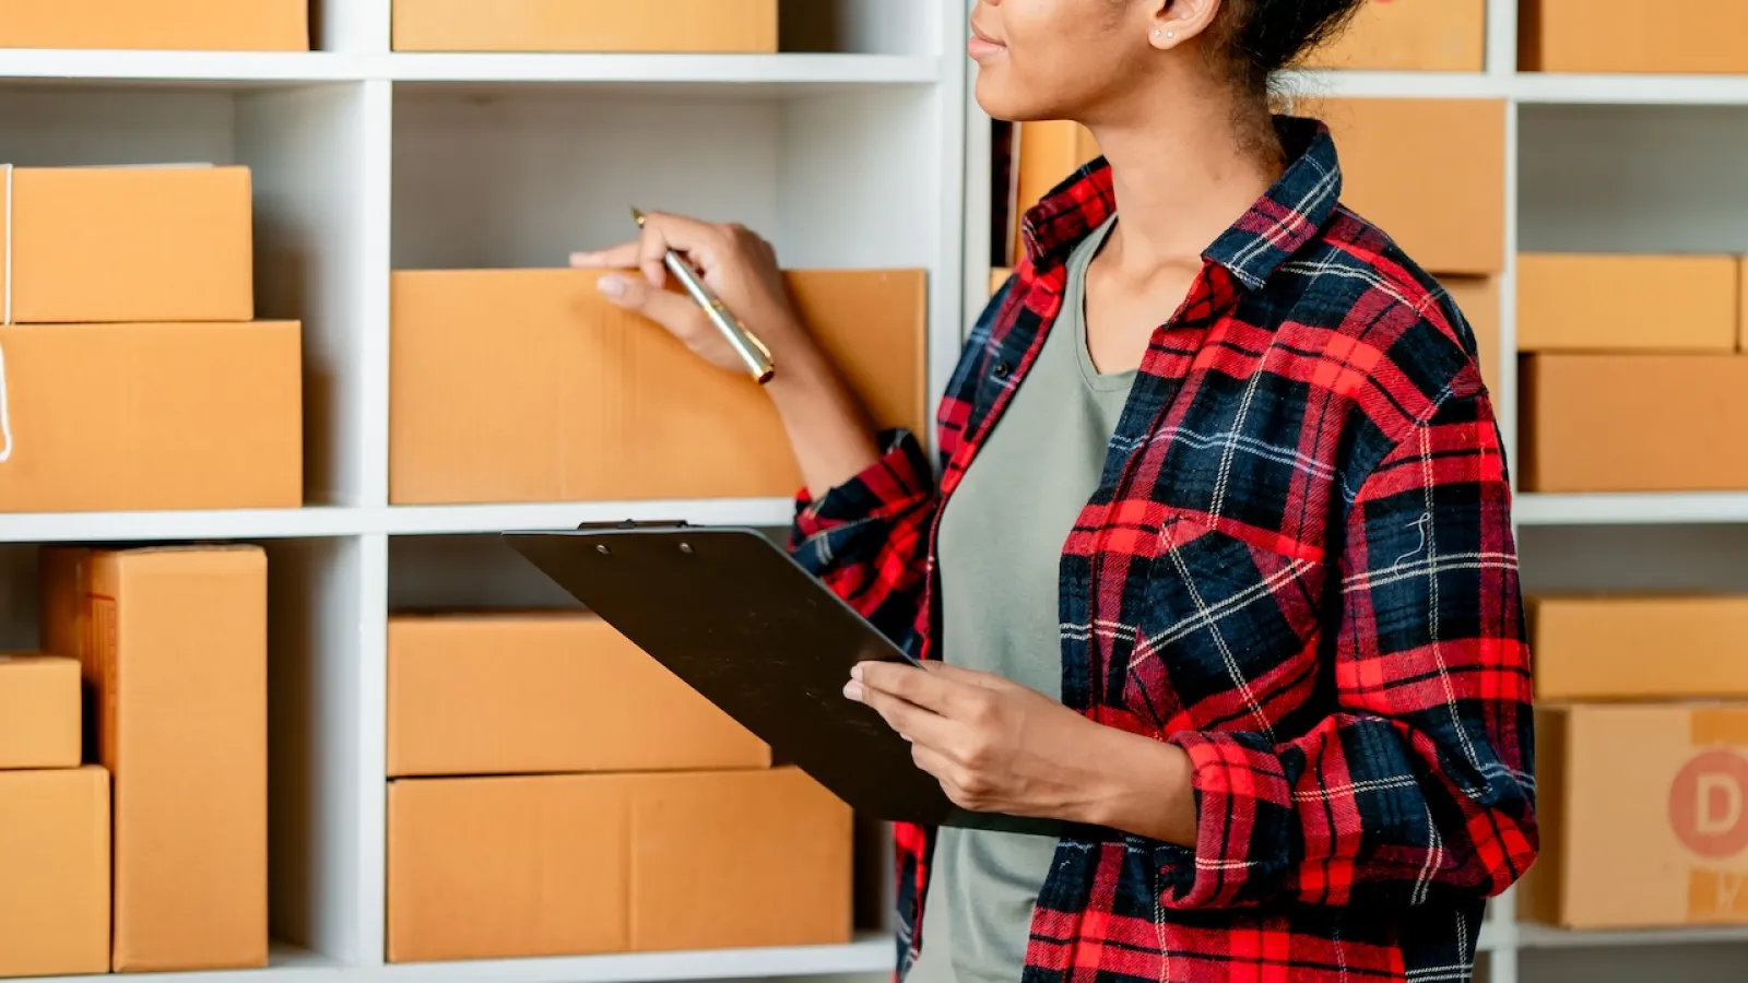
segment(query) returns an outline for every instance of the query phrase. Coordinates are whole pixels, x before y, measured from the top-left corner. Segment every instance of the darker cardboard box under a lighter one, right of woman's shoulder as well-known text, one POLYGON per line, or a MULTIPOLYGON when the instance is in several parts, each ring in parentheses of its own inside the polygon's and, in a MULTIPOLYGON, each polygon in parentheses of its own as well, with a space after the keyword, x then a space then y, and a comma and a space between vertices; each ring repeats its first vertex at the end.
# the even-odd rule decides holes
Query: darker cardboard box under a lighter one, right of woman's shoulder
POLYGON ((1748 488, 1748 357, 1531 355, 1524 492, 1748 488))

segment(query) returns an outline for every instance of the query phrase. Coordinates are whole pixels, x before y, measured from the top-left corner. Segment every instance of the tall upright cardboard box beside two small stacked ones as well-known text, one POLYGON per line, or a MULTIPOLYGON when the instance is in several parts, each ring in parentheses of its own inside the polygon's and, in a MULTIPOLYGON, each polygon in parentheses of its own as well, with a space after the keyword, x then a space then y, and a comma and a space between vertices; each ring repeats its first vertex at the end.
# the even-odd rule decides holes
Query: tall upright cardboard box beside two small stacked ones
POLYGON ((267 962, 267 560, 47 547, 44 647, 77 656, 115 777, 117 971, 267 962))

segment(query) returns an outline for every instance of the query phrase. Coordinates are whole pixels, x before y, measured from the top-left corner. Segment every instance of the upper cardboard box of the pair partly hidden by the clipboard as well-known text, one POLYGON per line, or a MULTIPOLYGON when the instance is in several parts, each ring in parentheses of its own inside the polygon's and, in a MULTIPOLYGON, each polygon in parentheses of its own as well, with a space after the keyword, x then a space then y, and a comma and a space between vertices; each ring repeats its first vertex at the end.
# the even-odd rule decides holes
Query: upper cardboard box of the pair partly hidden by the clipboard
POLYGON ((598 617, 388 619, 390 777, 769 766, 769 747, 598 617))

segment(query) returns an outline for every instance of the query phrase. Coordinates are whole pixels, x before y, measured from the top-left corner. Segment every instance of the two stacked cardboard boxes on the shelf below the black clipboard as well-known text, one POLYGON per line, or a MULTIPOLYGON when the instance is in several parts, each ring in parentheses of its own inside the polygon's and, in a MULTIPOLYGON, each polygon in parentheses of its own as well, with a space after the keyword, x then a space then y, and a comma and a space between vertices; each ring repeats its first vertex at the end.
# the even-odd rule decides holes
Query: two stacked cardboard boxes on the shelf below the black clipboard
POLYGON ((832 945, 851 815, 586 614, 388 624, 388 959, 832 945))

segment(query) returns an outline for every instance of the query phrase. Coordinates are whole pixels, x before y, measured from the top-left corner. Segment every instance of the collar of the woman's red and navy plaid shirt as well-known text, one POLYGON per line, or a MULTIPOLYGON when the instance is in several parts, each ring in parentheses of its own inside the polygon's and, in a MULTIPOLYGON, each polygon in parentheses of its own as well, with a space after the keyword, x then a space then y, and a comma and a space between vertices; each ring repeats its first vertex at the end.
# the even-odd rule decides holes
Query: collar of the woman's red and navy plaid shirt
MULTIPOLYGON (((1287 150, 1287 170, 1203 252, 1206 262, 1225 268, 1250 290, 1262 287, 1287 257, 1316 238, 1341 199, 1341 161, 1328 128, 1314 119, 1276 115, 1274 129, 1287 150)), ((1026 255, 1037 257, 1038 266, 1066 262, 1075 243, 1115 210, 1110 164, 1099 157, 1026 212, 1026 255)))

